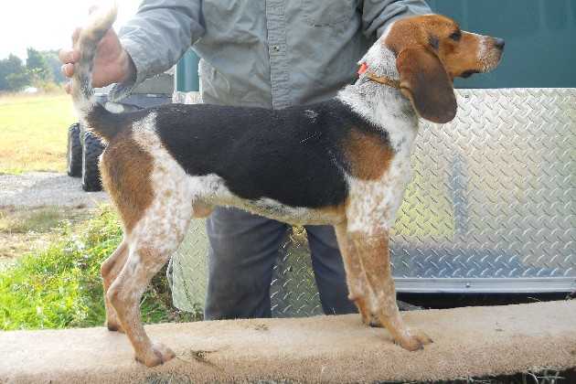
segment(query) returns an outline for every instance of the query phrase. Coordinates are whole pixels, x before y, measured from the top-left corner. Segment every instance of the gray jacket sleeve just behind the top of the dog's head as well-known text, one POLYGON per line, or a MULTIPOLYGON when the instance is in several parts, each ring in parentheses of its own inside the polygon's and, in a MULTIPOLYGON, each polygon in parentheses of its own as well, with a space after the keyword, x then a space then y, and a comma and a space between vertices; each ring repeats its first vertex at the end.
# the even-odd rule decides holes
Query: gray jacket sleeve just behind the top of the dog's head
POLYGON ((432 14, 432 10, 423 0, 363 0, 362 30, 366 37, 378 38, 392 21, 425 14, 432 14))

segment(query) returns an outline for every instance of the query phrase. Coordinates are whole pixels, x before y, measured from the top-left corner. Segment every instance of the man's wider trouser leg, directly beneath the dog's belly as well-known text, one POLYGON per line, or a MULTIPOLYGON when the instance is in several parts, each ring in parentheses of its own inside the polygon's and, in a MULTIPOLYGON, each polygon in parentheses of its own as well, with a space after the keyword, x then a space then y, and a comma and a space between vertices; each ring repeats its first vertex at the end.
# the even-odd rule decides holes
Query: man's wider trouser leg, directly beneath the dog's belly
POLYGON ((218 207, 206 227, 210 246, 204 317, 271 317, 272 268, 286 224, 218 207))

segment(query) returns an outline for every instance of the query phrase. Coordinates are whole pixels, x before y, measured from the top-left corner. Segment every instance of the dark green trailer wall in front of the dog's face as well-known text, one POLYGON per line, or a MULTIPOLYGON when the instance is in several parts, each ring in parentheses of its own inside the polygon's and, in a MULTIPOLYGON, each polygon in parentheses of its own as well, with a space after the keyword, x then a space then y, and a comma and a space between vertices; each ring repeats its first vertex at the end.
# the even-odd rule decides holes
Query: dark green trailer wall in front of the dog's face
POLYGON ((575 88, 576 0, 429 0, 465 30, 506 39, 492 73, 459 88, 575 88))

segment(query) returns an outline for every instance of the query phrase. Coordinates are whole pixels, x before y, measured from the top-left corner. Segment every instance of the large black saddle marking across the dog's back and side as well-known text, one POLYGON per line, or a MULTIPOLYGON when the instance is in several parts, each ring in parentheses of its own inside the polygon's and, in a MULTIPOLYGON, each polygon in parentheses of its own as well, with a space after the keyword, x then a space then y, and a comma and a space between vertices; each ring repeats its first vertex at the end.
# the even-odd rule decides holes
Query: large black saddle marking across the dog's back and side
POLYGON ((336 99, 284 110, 170 104, 152 111, 156 132, 188 175, 216 174, 239 197, 291 207, 344 202, 347 134, 375 132, 336 99))

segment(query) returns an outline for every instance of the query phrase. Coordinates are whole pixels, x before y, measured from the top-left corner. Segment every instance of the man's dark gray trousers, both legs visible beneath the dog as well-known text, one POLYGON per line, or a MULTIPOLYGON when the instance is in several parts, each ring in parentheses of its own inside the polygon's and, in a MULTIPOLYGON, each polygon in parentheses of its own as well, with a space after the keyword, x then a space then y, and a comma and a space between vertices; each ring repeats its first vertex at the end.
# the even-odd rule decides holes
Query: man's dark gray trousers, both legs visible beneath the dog
MULTIPOLYGON (((207 220, 207 320, 271 317, 272 268, 291 227, 237 208, 215 208, 207 220)), ((315 281, 326 315, 356 313, 334 229, 305 226, 315 281)))

